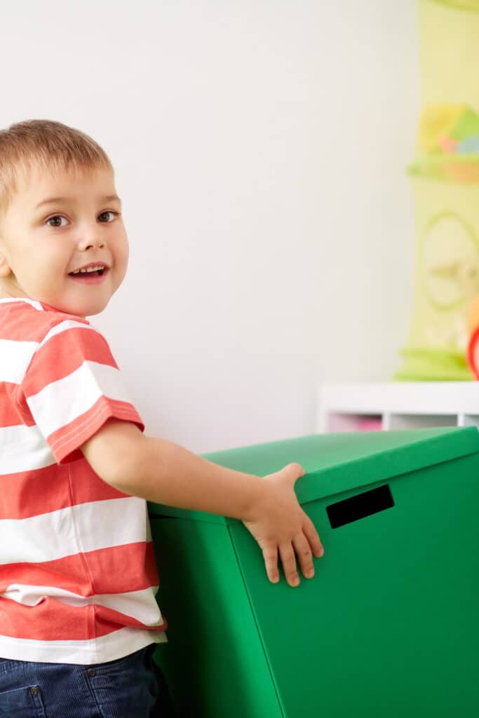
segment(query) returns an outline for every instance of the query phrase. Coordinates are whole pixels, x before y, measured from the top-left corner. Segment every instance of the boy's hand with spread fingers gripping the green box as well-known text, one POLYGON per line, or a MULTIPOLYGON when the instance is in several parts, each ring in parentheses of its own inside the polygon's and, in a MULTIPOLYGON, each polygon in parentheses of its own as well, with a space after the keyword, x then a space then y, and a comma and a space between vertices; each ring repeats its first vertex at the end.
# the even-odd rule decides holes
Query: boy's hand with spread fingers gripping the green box
POLYGON ((290 586, 299 585, 295 553, 306 578, 315 573, 312 555, 319 558, 324 554, 315 526, 294 493, 294 484, 302 475, 299 464, 289 464, 264 477, 264 499, 252 508, 251 518, 243 521, 263 551, 266 574, 273 583, 279 581, 278 553, 290 586))

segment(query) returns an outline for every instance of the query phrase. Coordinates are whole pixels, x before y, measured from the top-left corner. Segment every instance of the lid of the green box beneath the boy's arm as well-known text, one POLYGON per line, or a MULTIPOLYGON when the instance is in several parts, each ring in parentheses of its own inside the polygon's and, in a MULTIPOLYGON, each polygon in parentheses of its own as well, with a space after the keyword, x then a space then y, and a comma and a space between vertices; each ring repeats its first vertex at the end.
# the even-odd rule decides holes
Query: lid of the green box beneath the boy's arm
MULTIPOLYGON (((203 454, 215 464, 266 476, 291 462, 304 468, 295 484, 302 505, 327 496, 388 480, 479 452, 475 426, 447 426, 390 432, 313 434, 284 441, 203 454)), ((195 521, 233 523, 237 519, 158 503, 150 516, 177 516, 195 521)))

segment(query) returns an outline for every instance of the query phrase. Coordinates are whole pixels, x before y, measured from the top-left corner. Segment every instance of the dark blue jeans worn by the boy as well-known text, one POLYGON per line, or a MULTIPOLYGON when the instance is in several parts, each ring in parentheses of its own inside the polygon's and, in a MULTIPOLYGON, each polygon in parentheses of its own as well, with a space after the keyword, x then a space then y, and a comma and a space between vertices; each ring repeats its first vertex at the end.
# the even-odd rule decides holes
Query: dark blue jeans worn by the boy
POLYGON ((170 718, 155 648, 90 666, 0 658, 0 718, 170 718))

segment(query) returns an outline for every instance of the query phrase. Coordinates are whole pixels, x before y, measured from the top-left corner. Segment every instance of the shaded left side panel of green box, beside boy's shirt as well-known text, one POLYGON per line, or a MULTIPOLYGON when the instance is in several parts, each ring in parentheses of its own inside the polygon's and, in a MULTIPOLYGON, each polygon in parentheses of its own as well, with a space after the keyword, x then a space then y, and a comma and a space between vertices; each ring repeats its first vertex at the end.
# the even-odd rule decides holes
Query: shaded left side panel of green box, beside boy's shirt
POLYGON ((182 716, 282 716, 224 526, 152 519, 168 643, 155 653, 182 716))

